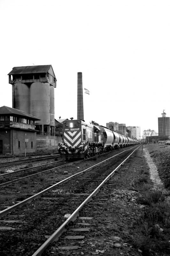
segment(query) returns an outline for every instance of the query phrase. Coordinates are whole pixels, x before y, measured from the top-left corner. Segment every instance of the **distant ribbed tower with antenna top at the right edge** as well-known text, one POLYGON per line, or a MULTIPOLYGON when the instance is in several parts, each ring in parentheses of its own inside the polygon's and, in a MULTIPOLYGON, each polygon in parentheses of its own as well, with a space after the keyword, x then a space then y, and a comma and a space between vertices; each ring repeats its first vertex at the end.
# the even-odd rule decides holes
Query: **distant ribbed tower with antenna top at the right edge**
POLYGON ((170 135, 170 118, 166 117, 166 113, 163 109, 162 117, 158 117, 158 135, 169 136, 170 135))

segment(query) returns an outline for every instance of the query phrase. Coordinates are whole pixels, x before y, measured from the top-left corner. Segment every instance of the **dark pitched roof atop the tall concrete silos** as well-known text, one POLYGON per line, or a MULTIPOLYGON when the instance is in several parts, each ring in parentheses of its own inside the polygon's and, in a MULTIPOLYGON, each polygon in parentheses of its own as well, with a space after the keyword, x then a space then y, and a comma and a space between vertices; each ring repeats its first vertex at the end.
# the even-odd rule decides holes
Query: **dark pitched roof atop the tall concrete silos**
POLYGON ((8 75, 47 73, 50 68, 52 68, 51 65, 13 67, 8 75))

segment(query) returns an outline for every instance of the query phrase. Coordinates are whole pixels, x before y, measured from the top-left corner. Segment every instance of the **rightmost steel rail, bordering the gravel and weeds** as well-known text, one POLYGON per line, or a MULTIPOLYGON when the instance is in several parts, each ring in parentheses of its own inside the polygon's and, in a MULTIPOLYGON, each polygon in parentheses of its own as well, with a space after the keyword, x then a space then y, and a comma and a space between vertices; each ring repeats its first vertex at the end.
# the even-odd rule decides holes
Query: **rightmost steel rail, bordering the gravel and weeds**
MULTIPOLYGON (((140 147, 140 146, 139 146, 140 147)), ((138 147, 138 148, 139 148, 138 147)), ((79 215, 79 211, 90 201, 92 197, 96 196, 100 188, 115 174, 115 172, 127 161, 127 159, 138 149, 136 148, 121 164, 119 164, 113 172, 111 172, 101 183, 100 185, 88 196, 85 201, 78 206, 78 208, 70 215, 70 217, 63 222, 63 224, 57 228, 57 230, 41 245, 41 247, 32 254, 32 256, 41 256, 49 244, 58 240, 62 233, 67 229, 66 226, 71 222, 76 220, 79 215)))

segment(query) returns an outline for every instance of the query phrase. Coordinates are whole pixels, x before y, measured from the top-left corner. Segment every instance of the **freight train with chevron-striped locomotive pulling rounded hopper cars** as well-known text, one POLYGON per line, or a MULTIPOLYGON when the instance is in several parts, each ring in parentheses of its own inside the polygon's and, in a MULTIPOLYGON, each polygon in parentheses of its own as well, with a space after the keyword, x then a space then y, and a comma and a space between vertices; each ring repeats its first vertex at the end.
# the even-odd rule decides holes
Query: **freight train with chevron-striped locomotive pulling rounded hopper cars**
POLYGON ((62 158, 86 158, 138 143, 102 125, 67 120, 63 122, 63 142, 58 143, 58 151, 62 158))

